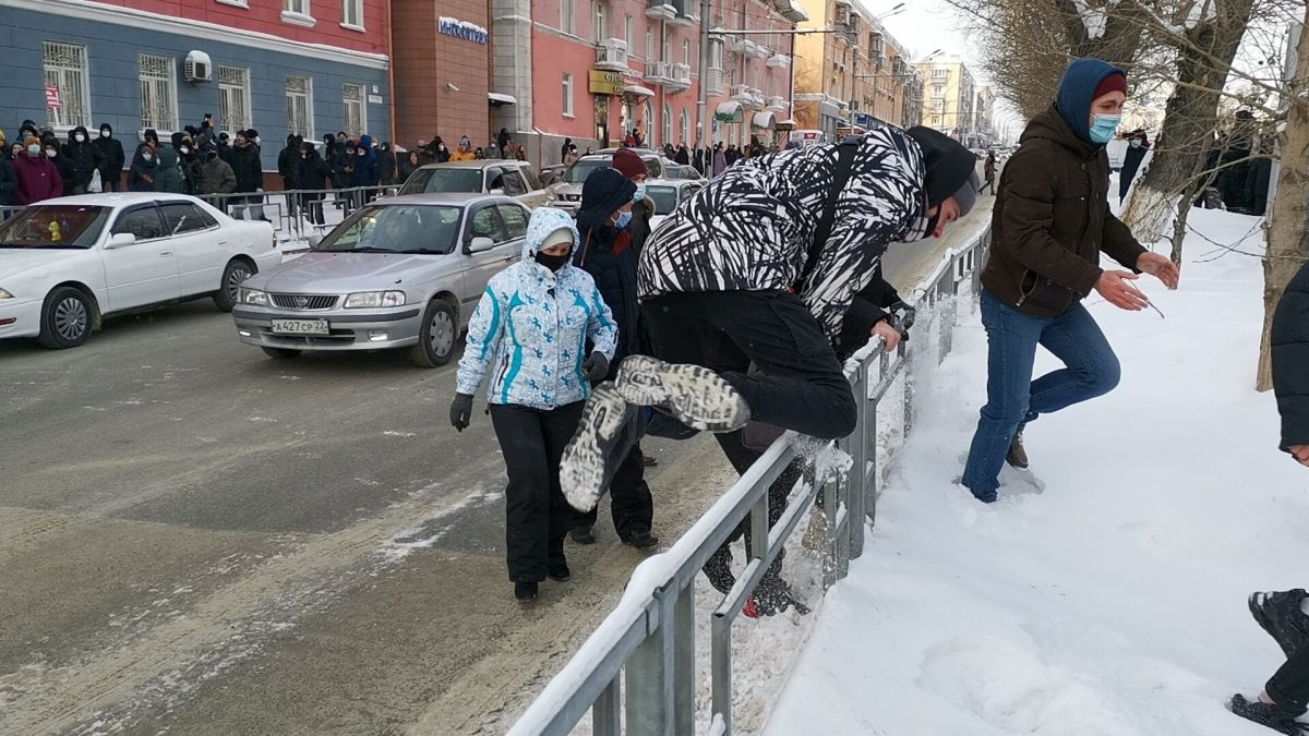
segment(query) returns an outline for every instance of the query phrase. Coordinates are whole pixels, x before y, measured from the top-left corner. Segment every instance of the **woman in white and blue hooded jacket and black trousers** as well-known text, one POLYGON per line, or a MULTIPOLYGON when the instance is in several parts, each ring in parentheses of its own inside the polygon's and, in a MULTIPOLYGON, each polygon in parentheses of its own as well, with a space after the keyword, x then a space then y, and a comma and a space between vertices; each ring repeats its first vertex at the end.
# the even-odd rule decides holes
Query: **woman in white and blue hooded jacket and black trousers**
POLYGON ((589 381, 609 372, 617 339, 594 280, 571 265, 576 246, 567 212, 542 207, 531 213, 522 258, 491 278, 469 322, 450 403, 450 423, 462 432, 490 373, 491 424, 509 475, 507 563, 521 602, 535 600, 547 576, 569 578, 559 458, 592 393, 589 381), (588 342, 590 354, 583 350, 588 342), (513 371, 499 368, 511 363, 513 371))

